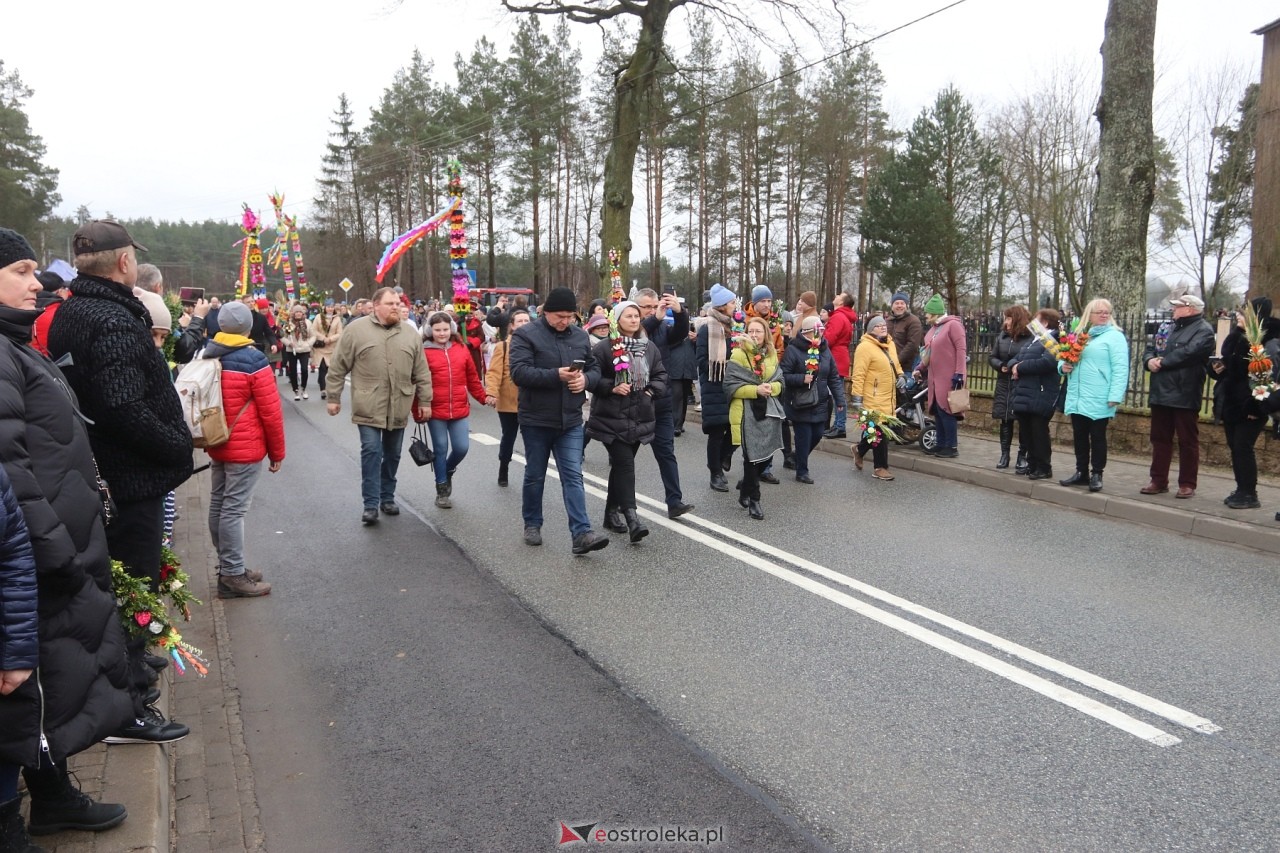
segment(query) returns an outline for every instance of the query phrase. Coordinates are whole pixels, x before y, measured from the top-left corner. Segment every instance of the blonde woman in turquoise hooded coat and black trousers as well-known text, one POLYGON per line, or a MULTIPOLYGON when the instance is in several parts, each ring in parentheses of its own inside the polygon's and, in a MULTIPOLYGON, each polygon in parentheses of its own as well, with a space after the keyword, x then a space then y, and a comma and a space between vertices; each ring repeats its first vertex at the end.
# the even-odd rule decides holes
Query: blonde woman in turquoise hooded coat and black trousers
POLYGON ((1068 377, 1062 411, 1071 418, 1075 442, 1075 474, 1059 483, 1088 484, 1091 492, 1101 492, 1102 469, 1107 466, 1107 424, 1129 388, 1129 342, 1111 321, 1107 300, 1085 305, 1079 328, 1089 333, 1079 362, 1059 362, 1059 370, 1068 377))

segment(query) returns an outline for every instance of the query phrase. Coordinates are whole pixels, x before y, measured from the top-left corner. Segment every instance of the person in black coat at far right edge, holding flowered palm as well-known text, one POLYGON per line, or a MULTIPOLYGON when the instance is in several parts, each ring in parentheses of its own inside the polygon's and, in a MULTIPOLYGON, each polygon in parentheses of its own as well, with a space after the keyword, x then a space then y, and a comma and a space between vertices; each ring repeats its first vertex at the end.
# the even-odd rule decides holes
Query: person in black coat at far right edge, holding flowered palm
MULTIPOLYGON (((1280 338, 1280 320, 1271 316, 1271 300, 1260 296, 1253 300, 1253 311, 1262 323, 1262 345, 1280 338)), ((1244 314, 1236 316, 1235 328, 1222 341, 1222 357, 1212 362, 1211 374, 1217 379, 1219 416, 1226 432, 1226 446, 1231 451, 1231 473, 1235 491, 1222 501, 1233 510, 1256 510, 1258 501, 1258 457, 1253 446, 1267 423, 1267 403, 1257 401, 1249 388, 1249 339, 1244 337, 1244 314)), ((1272 392, 1272 397, 1277 394, 1272 392)))

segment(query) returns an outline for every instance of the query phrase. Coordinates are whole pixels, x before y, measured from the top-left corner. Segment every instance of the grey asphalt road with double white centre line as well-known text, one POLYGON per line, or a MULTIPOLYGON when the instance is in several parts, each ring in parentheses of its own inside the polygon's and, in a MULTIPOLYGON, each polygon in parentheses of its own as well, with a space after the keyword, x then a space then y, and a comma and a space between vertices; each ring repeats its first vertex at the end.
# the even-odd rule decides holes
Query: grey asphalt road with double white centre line
POLYGON ((641 450, 653 533, 575 558, 556 483, 521 543, 488 410, 453 510, 406 459, 415 512, 364 529, 356 430, 323 406, 285 402, 259 487, 275 593, 229 608, 273 852, 547 849, 562 820, 735 850, 1280 848, 1256 552, 836 456, 753 523, 695 426, 698 510, 667 521, 641 450))

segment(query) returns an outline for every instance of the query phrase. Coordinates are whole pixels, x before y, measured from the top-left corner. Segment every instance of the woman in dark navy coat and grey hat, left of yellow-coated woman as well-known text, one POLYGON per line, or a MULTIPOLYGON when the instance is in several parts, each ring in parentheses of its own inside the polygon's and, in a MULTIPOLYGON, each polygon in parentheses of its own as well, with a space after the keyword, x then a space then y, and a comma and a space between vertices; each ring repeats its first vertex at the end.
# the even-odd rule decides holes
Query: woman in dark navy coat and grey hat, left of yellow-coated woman
POLYGON ((782 355, 782 407, 795 433, 796 482, 813 484, 809 453, 827 429, 827 403, 845 405, 845 380, 836 369, 831 347, 822 339, 822 320, 817 315, 800 321, 800 332, 787 341, 782 355), (809 365, 809 350, 818 348, 818 364, 809 365))

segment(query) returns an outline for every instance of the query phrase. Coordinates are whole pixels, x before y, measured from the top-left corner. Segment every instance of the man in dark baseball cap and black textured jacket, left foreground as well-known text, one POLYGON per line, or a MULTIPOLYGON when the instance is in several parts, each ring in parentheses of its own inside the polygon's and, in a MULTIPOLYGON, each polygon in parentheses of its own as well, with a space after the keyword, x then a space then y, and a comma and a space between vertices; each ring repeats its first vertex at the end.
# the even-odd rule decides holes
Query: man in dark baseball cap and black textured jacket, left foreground
MULTIPOLYGON (((106 529, 111 558, 155 589, 164 498, 191 476, 191 430, 169 365, 151 339, 151 314, 133 295, 142 247, 111 220, 81 225, 72 247, 78 274, 69 284, 72 298, 49 328, 49 355, 79 398, 93 456, 115 498, 106 529)), ((145 660, 146 642, 131 640, 131 678, 140 697, 150 690, 145 660)), ((155 712, 141 715, 115 740, 163 743, 186 734, 186 726, 166 724, 155 712)))

